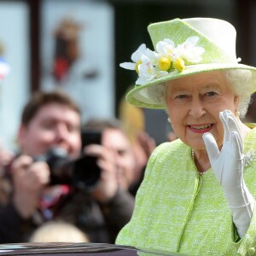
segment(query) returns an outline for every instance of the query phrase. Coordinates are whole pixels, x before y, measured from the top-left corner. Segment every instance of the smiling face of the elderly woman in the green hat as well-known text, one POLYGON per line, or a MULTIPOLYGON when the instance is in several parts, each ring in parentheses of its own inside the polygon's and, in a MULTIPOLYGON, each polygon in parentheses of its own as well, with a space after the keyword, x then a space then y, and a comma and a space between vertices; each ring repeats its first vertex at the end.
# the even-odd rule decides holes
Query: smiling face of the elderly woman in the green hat
POLYGON ((205 132, 212 133, 218 147, 222 145, 224 127, 218 113, 224 109, 235 113, 238 96, 224 74, 214 71, 167 82, 166 104, 177 137, 191 148, 205 149, 205 132))

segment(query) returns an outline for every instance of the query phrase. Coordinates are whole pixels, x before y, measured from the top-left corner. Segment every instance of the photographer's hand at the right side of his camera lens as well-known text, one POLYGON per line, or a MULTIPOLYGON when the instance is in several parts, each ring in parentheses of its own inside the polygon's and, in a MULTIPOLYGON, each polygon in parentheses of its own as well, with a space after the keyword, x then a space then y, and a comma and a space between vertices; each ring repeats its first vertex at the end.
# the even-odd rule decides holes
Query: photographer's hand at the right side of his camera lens
POLYGON ((97 164, 102 169, 102 172, 96 188, 92 191, 92 195, 96 201, 107 203, 113 198, 118 189, 114 155, 108 148, 96 144, 86 146, 84 154, 94 155, 98 158, 97 164))

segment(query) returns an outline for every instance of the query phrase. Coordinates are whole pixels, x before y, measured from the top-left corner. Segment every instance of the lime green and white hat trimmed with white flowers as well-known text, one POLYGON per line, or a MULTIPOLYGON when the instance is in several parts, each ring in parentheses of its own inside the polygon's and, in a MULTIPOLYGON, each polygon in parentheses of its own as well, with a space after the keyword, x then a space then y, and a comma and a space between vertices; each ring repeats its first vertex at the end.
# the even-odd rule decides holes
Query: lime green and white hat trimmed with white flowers
MULTIPOLYGON (((236 58, 236 29, 225 20, 212 18, 174 19, 148 26, 154 51, 141 44, 131 55, 133 62, 120 67, 135 70, 138 79, 126 99, 143 108, 165 108, 159 84, 196 73, 224 69, 256 68, 239 64, 236 58)), ((252 82, 250 82, 252 83, 252 82)))

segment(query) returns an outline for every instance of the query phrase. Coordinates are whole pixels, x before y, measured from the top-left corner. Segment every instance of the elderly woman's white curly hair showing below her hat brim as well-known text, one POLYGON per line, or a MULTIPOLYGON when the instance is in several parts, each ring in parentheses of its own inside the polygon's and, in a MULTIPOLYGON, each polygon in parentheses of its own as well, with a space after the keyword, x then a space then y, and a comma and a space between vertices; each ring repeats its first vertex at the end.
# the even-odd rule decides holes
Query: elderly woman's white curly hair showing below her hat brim
MULTIPOLYGON (((244 69, 228 69, 222 72, 230 84, 231 90, 239 97, 237 110, 240 113, 240 118, 244 118, 252 101, 252 91, 255 86, 253 74, 251 71, 244 69)), ((166 88, 166 83, 148 87, 149 98, 154 98, 159 104, 166 107, 166 88)))

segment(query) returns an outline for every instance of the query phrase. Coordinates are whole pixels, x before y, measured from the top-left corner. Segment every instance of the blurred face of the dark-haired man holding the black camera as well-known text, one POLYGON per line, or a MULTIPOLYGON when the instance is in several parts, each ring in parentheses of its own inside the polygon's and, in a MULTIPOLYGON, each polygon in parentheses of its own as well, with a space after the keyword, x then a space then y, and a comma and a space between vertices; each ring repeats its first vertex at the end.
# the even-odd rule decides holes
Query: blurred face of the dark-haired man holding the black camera
POLYGON ((37 156, 60 147, 77 157, 81 148, 79 113, 58 103, 44 105, 28 125, 21 125, 18 140, 23 154, 37 156))

